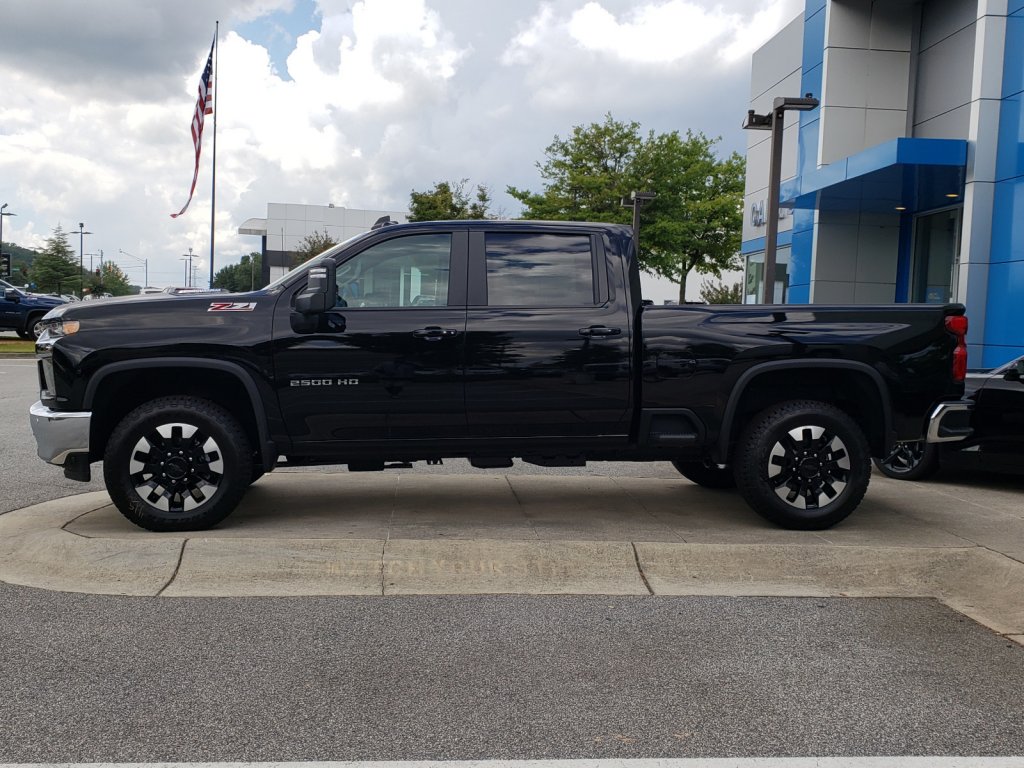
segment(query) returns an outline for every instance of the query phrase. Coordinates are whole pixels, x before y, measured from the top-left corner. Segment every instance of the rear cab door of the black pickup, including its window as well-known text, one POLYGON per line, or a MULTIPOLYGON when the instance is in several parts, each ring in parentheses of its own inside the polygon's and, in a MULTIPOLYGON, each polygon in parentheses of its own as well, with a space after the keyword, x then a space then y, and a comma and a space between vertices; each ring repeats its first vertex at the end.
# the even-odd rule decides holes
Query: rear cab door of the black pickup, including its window
POLYGON ((470 437, 626 442, 629 312, 612 295, 605 248, 580 227, 470 231, 470 437))

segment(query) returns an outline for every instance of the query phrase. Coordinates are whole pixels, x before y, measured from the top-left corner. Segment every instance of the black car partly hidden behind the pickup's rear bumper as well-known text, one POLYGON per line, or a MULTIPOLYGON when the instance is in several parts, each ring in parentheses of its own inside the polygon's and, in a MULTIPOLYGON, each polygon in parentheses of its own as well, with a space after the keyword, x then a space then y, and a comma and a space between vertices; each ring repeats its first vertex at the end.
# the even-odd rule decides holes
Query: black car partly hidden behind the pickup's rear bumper
POLYGON ((971 437, 900 442, 874 466, 900 480, 923 480, 941 467, 1024 473, 1024 355, 998 368, 969 371, 965 396, 975 402, 971 437))

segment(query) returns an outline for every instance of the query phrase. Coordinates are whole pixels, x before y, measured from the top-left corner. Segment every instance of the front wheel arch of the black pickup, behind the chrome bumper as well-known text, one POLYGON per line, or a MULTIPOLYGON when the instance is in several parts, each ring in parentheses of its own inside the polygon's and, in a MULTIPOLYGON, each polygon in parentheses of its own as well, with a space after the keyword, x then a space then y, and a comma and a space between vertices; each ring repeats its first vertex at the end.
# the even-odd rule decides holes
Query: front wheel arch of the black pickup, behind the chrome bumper
POLYGON ((117 424, 132 410, 166 395, 203 397, 227 410, 246 430, 264 468, 276 462, 276 450, 262 397, 245 369, 229 360, 159 357, 103 366, 90 379, 83 408, 92 412, 90 459, 102 457, 117 424))

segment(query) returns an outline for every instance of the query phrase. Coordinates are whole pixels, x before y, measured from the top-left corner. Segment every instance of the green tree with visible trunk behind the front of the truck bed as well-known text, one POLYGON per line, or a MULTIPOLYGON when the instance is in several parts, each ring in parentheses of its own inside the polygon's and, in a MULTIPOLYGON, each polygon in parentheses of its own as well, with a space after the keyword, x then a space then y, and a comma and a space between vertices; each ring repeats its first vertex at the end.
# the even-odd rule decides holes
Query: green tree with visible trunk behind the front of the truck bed
POLYGON ((641 212, 640 264, 679 286, 686 299, 691 271, 722 276, 738 266, 745 163, 719 160, 718 139, 678 131, 651 135, 636 158, 636 174, 655 198, 641 212))

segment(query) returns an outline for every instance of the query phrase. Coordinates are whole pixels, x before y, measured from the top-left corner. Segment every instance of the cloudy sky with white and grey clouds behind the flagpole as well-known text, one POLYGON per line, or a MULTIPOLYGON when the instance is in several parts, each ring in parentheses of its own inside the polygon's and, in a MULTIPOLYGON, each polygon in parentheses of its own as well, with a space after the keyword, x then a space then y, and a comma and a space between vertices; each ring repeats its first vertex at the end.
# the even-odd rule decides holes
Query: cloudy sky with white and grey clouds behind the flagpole
MULTIPOLYGON (((211 123, 189 125, 220 22, 216 266, 267 203, 403 210, 469 178, 538 189, 556 135, 606 113, 742 151, 751 52, 803 0, 32 0, 0 5, 3 240, 93 234, 133 282, 210 251, 211 123)), ((208 118, 209 120, 209 118, 208 118)), ((78 250, 78 236, 72 242, 78 250)), ((88 257, 86 257, 88 260, 88 257)), ((204 262, 205 263, 205 262, 204 262)), ((208 266, 200 274, 208 273, 208 266)), ((691 281, 695 283, 696 281, 691 281)), ((671 287, 663 291, 672 298, 671 287)), ((648 292, 650 295, 650 292, 648 292)), ((651 296, 659 300, 663 296, 651 296)))

